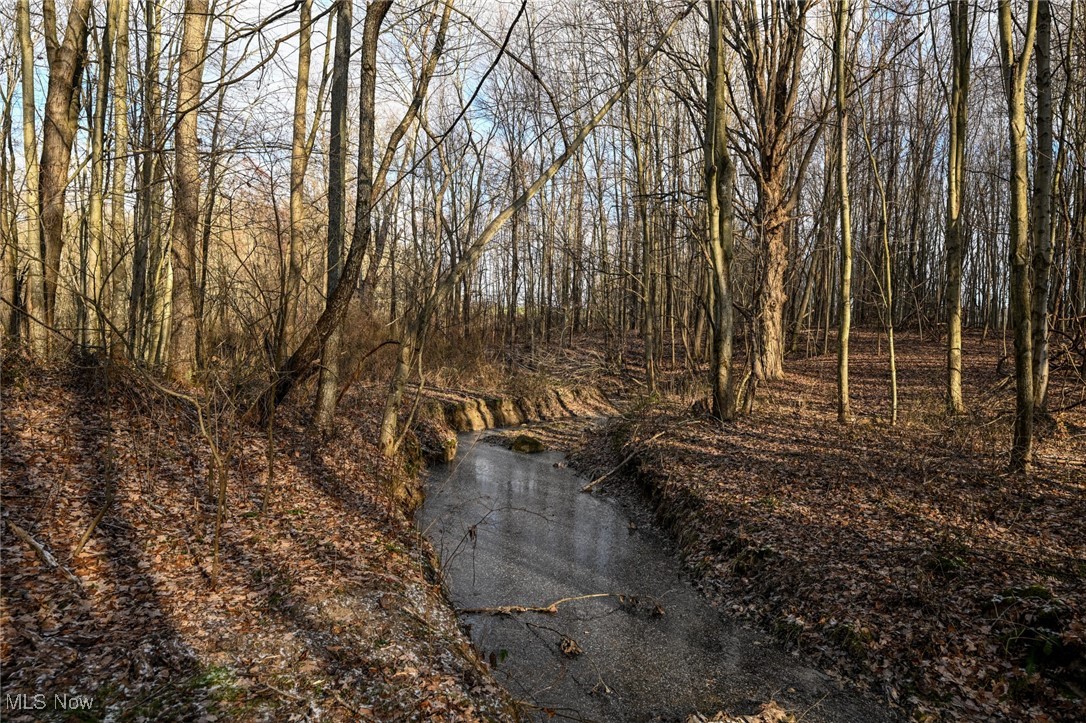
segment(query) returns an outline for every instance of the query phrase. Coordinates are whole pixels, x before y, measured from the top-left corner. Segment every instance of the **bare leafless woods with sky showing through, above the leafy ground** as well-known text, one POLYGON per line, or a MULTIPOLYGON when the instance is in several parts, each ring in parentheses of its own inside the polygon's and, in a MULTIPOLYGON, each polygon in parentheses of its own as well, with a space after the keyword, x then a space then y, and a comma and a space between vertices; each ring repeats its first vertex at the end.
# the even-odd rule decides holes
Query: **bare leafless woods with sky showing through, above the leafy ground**
POLYGON ((453 335, 487 344, 603 330, 619 364, 633 334, 651 389, 656 367, 678 359, 668 347, 691 371, 718 359, 731 380, 715 397, 723 419, 786 375, 787 350, 810 353, 835 330, 847 422, 854 319, 945 334, 947 408, 961 413, 961 329, 1006 328, 1020 408, 1010 446, 1015 466, 1028 459, 1050 338, 1058 364, 1075 364, 1083 343, 1076 3, 727 3, 708 41, 708 7, 692 4, 620 5, 586 26, 565 10, 481 18, 437 3, 402 17, 416 28, 404 37, 372 21, 365 36, 370 9, 356 22, 350 4, 238 20, 201 3, 76 3, 58 38, 50 13, 16 3, 8 73, 25 100, 21 148, 13 134, 4 151, 9 347, 99 348, 197 383, 261 359, 276 390, 256 394, 264 418, 319 369, 317 423, 329 431, 365 353, 344 343, 393 341, 391 451, 395 388, 419 373, 440 308, 458 309, 458 322, 440 321, 453 335), (998 43, 975 42, 995 27, 998 43), (130 37, 142 58, 131 67, 130 37), (35 46, 50 50, 45 73, 35 46), (390 64, 352 69, 355 48, 390 64), (311 77, 314 55, 325 60, 311 77), (704 83, 703 58, 717 59, 704 83), (997 61, 999 76, 987 71, 997 61), (289 137, 253 93, 289 111, 289 137), (1000 116, 1009 135, 990 122, 1000 116), (698 170, 692 143, 712 168, 698 170), (1001 168, 1011 182, 998 182, 1001 168), (855 204, 854 188, 864 189, 855 204), (729 306, 747 381, 727 358, 729 306), (368 340, 344 342, 348 319, 368 340))

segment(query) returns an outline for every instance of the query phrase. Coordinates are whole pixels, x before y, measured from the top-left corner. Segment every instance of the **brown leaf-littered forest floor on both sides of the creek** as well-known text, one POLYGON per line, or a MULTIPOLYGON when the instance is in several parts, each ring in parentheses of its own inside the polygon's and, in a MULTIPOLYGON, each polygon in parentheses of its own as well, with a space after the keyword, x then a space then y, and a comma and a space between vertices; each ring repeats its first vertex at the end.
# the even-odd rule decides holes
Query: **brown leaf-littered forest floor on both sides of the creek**
MULTIPOLYGON (((1002 340, 967 339, 959 418, 943 411, 943 346, 905 334, 898 350, 894 427, 885 344, 862 332, 848 427, 832 352, 790 359, 727 427, 694 411, 700 375, 665 368, 667 393, 647 395, 636 350, 616 369, 590 339, 435 379, 624 397, 606 427, 532 433, 590 477, 633 455, 599 491, 647 494, 717 607, 915 718, 1086 719, 1081 383, 1056 375, 1052 406, 1073 408, 1041 426, 1037 464, 1013 477, 1002 340)), ((9 357, 0 382, 4 695, 45 694, 50 708, 54 694, 92 696, 88 718, 132 721, 514 716, 389 492, 417 470, 374 444, 383 385, 349 392, 327 442, 304 405, 283 408, 270 491, 266 436, 206 410, 228 471, 216 569, 191 405, 124 369, 9 357)))

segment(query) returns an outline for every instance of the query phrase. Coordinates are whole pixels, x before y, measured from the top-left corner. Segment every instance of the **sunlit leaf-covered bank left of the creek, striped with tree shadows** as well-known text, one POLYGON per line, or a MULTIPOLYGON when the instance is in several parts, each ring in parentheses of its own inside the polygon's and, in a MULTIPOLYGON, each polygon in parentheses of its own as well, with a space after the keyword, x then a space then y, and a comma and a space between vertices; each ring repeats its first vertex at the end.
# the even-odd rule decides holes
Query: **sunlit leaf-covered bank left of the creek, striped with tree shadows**
POLYGON ((329 442, 301 405, 283 410, 267 510, 266 437, 214 427, 216 569, 193 408, 110 376, 3 367, 2 693, 45 709, 0 718, 59 718, 54 695, 92 697, 92 720, 509 716, 388 493, 406 473, 374 444, 383 388, 349 393, 329 442))

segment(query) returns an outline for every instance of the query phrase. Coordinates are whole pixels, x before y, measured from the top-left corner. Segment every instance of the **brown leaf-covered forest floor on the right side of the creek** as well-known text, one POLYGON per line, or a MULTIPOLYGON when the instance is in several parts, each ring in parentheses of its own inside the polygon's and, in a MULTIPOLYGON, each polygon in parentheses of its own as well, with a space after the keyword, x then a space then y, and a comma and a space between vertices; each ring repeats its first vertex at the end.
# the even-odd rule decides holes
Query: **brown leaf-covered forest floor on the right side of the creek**
MULTIPOLYGON (((790 359, 753 416, 721 426, 691 397, 633 405, 573 456, 636 485, 721 610, 754 619, 918 720, 1086 719, 1086 406, 1058 411, 1028 475, 1007 473, 1013 381, 1002 340, 965 340, 965 403, 943 411, 945 352, 855 334, 855 423, 836 358, 790 359)), ((1078 406, 1074 406, 1077 403, 1078 406)))

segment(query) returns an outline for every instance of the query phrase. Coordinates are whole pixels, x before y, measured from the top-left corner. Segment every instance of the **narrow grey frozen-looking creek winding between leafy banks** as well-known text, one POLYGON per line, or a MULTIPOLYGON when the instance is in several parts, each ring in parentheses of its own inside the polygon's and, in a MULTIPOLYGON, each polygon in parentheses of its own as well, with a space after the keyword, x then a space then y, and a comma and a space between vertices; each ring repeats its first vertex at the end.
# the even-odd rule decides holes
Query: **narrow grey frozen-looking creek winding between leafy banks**
POLYGON ((685 721, 775 700, 804 721, 894 720, 722 617, 642 499, 583 494, 561 454, 480 439, 432 468, 417 520, 473 644, 533 718, 685 721), (464 612, 564 599, 554 614, 464 612))

